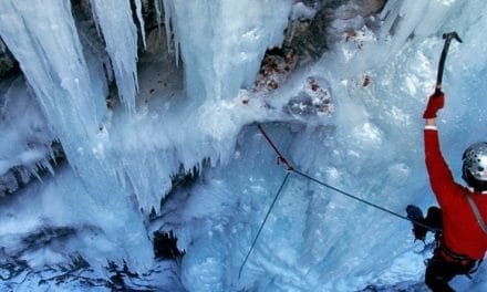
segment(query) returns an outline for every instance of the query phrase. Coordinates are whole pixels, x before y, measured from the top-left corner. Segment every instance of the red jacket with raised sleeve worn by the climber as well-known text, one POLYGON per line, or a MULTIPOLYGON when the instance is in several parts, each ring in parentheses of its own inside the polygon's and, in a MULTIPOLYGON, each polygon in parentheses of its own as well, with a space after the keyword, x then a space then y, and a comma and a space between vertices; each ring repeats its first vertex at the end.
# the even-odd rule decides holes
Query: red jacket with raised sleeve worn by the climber
POLYGON ((487 251, 487 234, 478 225, 465 194, 472 194, 484 221, 487 221, 487 194, 473 192, 454 181, 439 149, 436 128, 424 131, 424 142, 429 182, 443 210, 445 244, 456 253, 483 259, 487 251))

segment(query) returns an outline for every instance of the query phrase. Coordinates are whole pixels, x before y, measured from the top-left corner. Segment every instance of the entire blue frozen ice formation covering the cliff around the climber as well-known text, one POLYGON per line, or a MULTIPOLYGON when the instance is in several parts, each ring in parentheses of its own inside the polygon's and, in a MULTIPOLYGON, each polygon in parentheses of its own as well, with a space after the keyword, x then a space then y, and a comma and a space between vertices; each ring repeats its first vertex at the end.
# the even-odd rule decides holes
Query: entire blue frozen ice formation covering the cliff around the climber
MULTIPOLYGON (((434 204, 421 112, 441 35, 457 30, 438 127, 458 176, 463 148, 485 136, 483 1, 91 0, 96 35, 71 2, 0 2, 23 74, 0 82, 0 174, 53 167, 52 142, 69 164, 1 198, 0 265, 22 267, 1 268, 2 289, 106 291, 108 262, 138 272, 117 273, 134 289, 424 289, 428 251, 408 222, 294 174, 238 278, 286 175, 255 123, 312 177, 398 213, 434 204), (332 11, 322 55, 269 54, 320 11, 332 11), (174 232, 180 262, 154 263, 155 231, 174 232), (81 275, 58 286, 63 274, 44 267, 81 275)), ((484 271, 454 284, 483 291, 484 271)))

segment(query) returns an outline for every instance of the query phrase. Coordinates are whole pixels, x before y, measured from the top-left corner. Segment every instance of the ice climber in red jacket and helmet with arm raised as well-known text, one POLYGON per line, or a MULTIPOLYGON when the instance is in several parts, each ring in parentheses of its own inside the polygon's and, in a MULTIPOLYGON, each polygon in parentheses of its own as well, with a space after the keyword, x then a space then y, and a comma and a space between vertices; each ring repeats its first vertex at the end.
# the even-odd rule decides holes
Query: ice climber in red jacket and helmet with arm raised
POLYGON ((487 143, 469 146, 463 155, 463 179, 454 181, 441 148, 435 126, 445 96, 437 90, 429 96, 423 117, 426 168, 431 187, 441 207, 431 207, 426 218, 416 206, 407 206, 416 239, 436 230, 433 258, 426 261, 425 283, 433 291, 455 291, 448 282, 458 274, 470 275, 487 250, 487 143), (485 219, 484 219, 485 218, 485 219))

